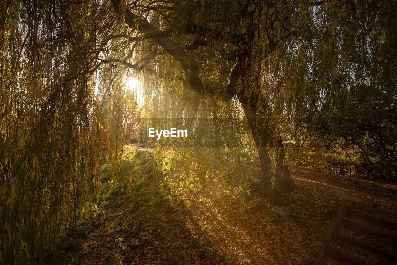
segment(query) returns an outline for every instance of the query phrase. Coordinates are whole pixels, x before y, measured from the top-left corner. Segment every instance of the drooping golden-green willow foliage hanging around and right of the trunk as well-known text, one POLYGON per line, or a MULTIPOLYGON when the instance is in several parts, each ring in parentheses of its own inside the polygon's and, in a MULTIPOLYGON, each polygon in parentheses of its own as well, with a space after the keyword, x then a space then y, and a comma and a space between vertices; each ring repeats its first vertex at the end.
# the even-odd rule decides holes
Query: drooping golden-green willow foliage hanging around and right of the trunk
MULTIPOLYGON (((261 116, 257 125, 272 123, 270 138, 275 138, 277 142, 277 130, 283 132, 292 123, 295 126, 304 125, 306 131, 311 131, 325 121, 328 136, 337 134, 343 116, 350 115, 349 106, 364 104, 363 100, 355 99, 360 93, 369 98, 382 98, 388 111, 395 109, 395 3, 183 1, 168 8, 156 6, 155 3, 148 8, 150 3, 146 2, 142 2, 141 6, 146 7, 144 11, 152 12, 135 12, 135 19, 140 19, 139 15, 146 17, 150 24, 167 32, 166 37, 184 47, 186 53, 200 65, 204 94, 211 99, 197 105, 199 114, 192 113, 195 118, 213 119, 227 112, 233 113, 233 108, 243 111, 240 102, 244 102, 245 98, 256 106, 270 104, 269 109, 255 111, 261 116), (173 19, 178 27, 173 25, 173 19), (384 74, 386 72, 387 75, 384 74), (231 89, 229 85, 236 73, 237 81, 231 89), (228 96, 232 100, 225 101, 228 96), (231 104, 231 108, 222 107, 227 106, 223 105, 225 103, 231 104)), ((126 24, 130 29, 134 28, 133 23, 127 21, 126 24)), ((137 29, 138 34, 145 36, 145 29, 139 26, 137 29)), ((154 112, 162 113, 157 115, 167 118, 180 115, 193 117, 185 109, 175 106, 177 98, 182 100, 182 106, 195 105, 194 101, 187 99, 186 92, 177 92, 178 88, 175 88, 185 82, 185 79, 175 77, 175 72, 179 71, 170 73, 170 69, 183 67, 183 60, 172 55, 175 60, 168 61, 169 53, 162 51, 162 48, 166 50, 168 47, 161 41, 153 42, 160 46, 161 61, 155 61, 158 72, 150 72, 150 80, 156 80, 156 84, 149 90, 157 87, 172 98, 153 98, 156 102, 154 112), (158 80, 165 82, 159 85, 158 80), (165 100, 167 105, 159 107, 161 100, 165 100), (174 106, 170 106, 170 102, 174 106), (158 112, 164 109, 167 110, 158 112)), ((189 73, 187 76, 189 78, 189 73)), ((194 82, 189 84, 200 93, 200 85, 194 82)), ((162 95, 162 92, 157 94, 162 95)), ((241 119, 239 115, 231 114, 230 117, 224 117, 226 126, 241 119)), ((233 133, 213 130, 208 126, 204 128, 207 130, 197 131, 197 135, 214 136, 214 141, 218 137, 233 138, 233 133)), ((247 126, 245 128, 249 129, 247 126)), ((266 142, 265 139, 262 141, 266 142)), ((197 143, 202 144, 201 137, 197 143)), ((391 150, 395 149, 393 140, 389 145, 391 150)), ((273 176, 273 185, 277 182, 276 168, 280 167, 276 161, 278 153, 277 144, 266 150, 266 156, 270 159, 265 164, 272 165, 270 175, 273 176)), ((389 166, 393 167, 393 164, 389 166)))

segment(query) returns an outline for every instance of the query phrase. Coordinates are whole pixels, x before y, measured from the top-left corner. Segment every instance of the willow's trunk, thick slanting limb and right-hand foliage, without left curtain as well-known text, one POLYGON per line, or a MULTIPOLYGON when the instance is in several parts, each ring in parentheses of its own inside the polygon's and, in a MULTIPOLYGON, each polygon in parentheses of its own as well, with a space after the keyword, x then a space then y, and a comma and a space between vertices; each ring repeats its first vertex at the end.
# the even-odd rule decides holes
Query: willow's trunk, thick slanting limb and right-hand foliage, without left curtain
MULTIPOLYGON (((315 124, 338 117, 362 84, 396 100, 395 2, 112 0, 136 62, 153 79, 181 82, 213 101, 238 100, 262 164, 261 192, 294 188, 280 125, 295 117, 315 124), (160 58, 161 56, 161 58, 160 58), (160 61, 161 60, 161 61, 160 61)), ((172 88, 170 88, 172 90, 172 88)))

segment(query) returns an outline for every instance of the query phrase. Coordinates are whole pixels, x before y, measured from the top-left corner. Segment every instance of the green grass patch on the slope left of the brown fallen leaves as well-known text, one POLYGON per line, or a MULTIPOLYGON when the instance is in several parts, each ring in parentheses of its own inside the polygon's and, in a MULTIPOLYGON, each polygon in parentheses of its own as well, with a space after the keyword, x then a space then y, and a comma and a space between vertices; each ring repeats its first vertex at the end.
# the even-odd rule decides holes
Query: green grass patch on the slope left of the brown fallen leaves
MULTIPOLYGON (((100 172, 102 196, 94 221, 71 229, 65 235, 68 239, 57 246, 48 263, 133 264, 152 253, 154 245, 179 241, 179 236, 173 234, 176 227, 171 225, 175 221, 172 215, 175 215, 176 199, 158 174, 152 154, 126 149, 116 176, 111 175, 106 163, 100 172), (98 226, 96 230, 93 223, 98 226), (87 237, 89 233, 93 238, 87 237)), ((169 255, 164 262, 175 263, 186 252, 178 248, 164 250, 163 254, 169 255)))

